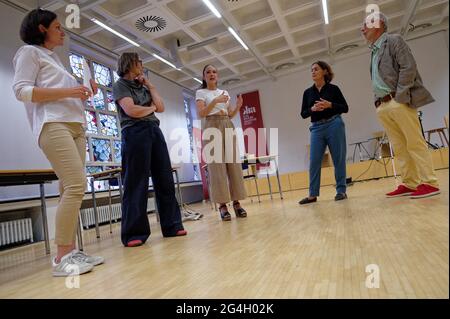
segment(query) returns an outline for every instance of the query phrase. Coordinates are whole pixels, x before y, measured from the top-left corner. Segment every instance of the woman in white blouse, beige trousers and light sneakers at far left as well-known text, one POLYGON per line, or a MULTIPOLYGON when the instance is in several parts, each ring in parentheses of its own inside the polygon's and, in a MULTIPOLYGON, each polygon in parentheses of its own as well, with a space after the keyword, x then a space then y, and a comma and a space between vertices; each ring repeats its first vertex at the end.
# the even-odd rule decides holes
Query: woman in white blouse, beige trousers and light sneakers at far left
MULTIPOLYGON (((86 187, 83 102, 92 92, 77 83, 53 52, 64 44, 64 36, 55 13, 32 10, 20 29, 20 37, 27 45, 19 48, 13 60, 14 93, 25 104, 35 139, 60 183, 53 276, 83 274, 104 261, 75 249, 78 215, 86 187)), ((96 93, 94 81, 91 87, 96 93)))

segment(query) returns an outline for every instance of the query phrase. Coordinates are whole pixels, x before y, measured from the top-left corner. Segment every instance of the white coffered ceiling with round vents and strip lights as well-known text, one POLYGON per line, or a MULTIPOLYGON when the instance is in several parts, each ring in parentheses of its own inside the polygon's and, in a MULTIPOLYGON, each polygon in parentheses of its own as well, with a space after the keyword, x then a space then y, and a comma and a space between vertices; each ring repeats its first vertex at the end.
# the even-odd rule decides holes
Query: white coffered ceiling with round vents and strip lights
POLYGON ((379 5, 388 16, 390 32, 408 37, 448 29, 449 16, 449 1, 444 0, 328 0, 329 25, 324 23, 321 0, 211 0, 223 19, 216 18, 202 0, 11 2, 26 9, 39 4, 59 17, 67 15, 68 3, 77 3, 82 11, 81 28, 73 32, 117 54, 137 51, 147 68, 190 89, 198 87, 192 77, 201 79, 205 64, 218 67, 221 84, 231 88, 276 79, 313 60, 333 62, 366 52, 359 29, 370 3, 379 5), (143 49, 98 27, 90 18, 127 35, 143 49), (431 26, 421 27, 425 23, 431 26), (138 25, 147 30, 139 30, 138 25), (228 26, 238 31, 249 51, 228 32, 228 26), (190 47, 205 40, 211 41, 190 47), (182 70, 160 62, 151 52, 179 63, 182 70), (230 83, 234 79, 239 81, 230 83), (227 80, 228 85, 223 83, 227 80))

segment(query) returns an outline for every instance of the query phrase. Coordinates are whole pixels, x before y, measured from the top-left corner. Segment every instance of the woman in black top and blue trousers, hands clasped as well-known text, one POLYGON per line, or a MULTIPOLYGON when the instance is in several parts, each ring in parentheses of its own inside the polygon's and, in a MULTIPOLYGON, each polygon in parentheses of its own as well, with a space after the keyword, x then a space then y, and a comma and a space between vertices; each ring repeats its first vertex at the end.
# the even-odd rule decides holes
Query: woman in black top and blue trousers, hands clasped
POLYGON ((331 84, 334 74, 331 67, 318 61, 311 66, 314 85, 303 93, 302 117, 311 117, 311 149, 309 164, 309 196, 299 204, 317 201, 320 191, 322 159, 328 146, 334 164, 336 178, 335 200, 347 198, 345 124, 342 113, 348 112, 348 105, 341 90, 331 84))

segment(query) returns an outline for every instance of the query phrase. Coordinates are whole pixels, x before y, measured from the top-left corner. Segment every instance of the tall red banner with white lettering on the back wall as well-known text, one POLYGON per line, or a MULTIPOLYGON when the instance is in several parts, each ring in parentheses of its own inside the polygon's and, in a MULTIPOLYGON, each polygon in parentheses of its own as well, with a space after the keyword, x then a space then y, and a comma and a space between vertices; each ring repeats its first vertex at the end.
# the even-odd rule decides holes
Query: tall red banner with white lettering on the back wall
MULTIPOLYGON (((267 155, 266 136, 261 112, 261 104, 259 102, 259 91, 242 94, 244 103, 240 110, 242 130, 244 131, 245 153, 254 154, 256 156, 267 155), (250 129, 246 131, 247 129, 250 129), (246 134, 254 131, 253 134, 246 134)), ((259 166, 259 165, 258 165, 259 166)))

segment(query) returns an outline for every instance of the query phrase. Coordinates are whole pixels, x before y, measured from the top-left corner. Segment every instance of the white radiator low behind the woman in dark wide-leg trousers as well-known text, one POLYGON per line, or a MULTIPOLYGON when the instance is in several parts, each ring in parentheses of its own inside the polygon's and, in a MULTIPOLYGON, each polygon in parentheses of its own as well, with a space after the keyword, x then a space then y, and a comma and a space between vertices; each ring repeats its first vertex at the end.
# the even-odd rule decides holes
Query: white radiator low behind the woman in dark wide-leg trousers
MULTIPOLYGON (((155 210, 154 198, 149 198, 147 202, 147 212, 155 210)), ((98 223, 109 223, 109 205, 97 206, 98 223)), ((112 222, 117 222, 122 218, 122 208, 120 203, 111 205, 112 222)), ((81 210, 81 222, 85 229, 95 226, 94 208, 84 208, 81 210)))

